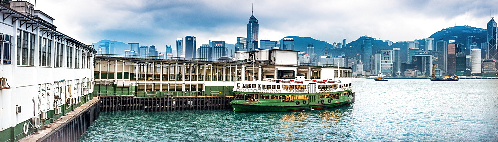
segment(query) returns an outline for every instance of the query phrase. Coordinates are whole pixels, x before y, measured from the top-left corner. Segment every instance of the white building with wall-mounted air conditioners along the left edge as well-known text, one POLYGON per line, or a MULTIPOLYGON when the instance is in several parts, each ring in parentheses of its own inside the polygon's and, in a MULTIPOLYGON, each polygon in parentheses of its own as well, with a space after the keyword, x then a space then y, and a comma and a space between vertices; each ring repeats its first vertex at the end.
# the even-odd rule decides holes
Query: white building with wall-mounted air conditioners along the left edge
POLYGON ((0 141, 17 141, 91 99, 96 51, 26 1, 0 4, 0 141))

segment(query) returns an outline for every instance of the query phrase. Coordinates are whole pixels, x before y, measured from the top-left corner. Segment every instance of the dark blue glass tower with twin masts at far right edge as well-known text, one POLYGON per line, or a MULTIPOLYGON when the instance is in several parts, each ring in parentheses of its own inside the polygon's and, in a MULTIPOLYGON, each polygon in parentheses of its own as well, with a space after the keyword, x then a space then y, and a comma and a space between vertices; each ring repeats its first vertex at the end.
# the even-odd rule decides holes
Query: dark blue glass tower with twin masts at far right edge
MULTIPOLYGON (((498 60, 498 45, 497 45, 497 23, 494 18, 488 22, 488 59, 498 60)), ((495 64, 495 71, 498 72, 498 64, 495 64)))

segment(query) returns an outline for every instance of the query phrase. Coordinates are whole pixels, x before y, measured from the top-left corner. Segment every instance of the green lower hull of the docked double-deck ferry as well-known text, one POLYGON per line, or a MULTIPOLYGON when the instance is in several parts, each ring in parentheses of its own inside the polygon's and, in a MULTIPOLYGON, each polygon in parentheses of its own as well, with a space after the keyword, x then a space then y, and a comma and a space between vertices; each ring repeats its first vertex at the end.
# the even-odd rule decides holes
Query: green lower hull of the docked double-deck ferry
POLYGON ((296 105, 296 106, 280 106, 280 105, 257 105, 257 104, 237 104, 232 103, 233 111, 240 112, 253 112, 253 111, 301 111, 301 110, 311 110, 311 109, 327 109, 338 107, 342 105, 351 104, 352 99, 337 103, 325 103, 325 104, 309 104, 309 105, 296 105))

